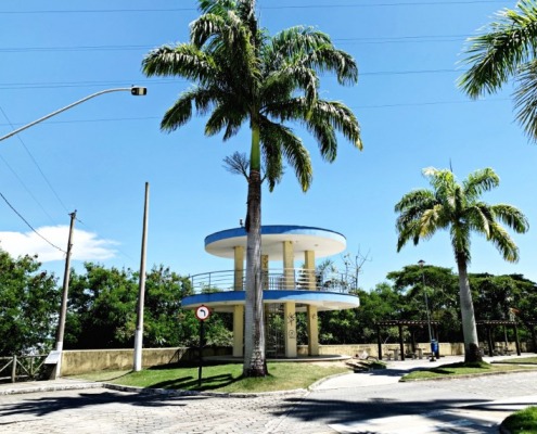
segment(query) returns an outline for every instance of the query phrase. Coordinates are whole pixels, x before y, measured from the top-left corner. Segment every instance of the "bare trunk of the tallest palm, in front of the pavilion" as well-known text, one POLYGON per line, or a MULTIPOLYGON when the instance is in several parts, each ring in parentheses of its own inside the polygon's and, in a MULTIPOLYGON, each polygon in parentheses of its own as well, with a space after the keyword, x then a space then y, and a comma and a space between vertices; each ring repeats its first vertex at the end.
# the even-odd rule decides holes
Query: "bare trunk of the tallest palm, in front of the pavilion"
POLYGON ((244 309, 244 376, 267 375, 261 286, 261 173, 259 135, 253 128, 246 214, 246 303, 244 309), (253 162, 253 163, 252 163, 253 162))

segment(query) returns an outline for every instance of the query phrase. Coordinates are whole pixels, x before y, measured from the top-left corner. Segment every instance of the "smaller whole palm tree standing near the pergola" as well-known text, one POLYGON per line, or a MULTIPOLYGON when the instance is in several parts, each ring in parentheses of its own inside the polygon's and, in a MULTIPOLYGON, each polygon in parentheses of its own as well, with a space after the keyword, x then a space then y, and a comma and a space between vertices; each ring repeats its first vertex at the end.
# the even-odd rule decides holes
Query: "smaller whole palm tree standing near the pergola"
POLYGON ((440 229, 449 231, 455 260, 459 271, 459 298, 464 335, 464 361, 481 361, 477 329, 468 266, 471 260, 471 234, 477 232, 490 241, 503 256, 514 263, 519 260, 519 248, 500 222, 517 233, 528 229, 526 217, 511 205, 489 205, 482 202, 482 193, 499 186, 500 179, 490 168, 476 170, 458 182, 450 170, 433 167, 423 170, 432 190, 420 189, 402 196, 395 205, 399 213, 396 228, 399 234, 397 252, 408 242, 417 245, 440 229))

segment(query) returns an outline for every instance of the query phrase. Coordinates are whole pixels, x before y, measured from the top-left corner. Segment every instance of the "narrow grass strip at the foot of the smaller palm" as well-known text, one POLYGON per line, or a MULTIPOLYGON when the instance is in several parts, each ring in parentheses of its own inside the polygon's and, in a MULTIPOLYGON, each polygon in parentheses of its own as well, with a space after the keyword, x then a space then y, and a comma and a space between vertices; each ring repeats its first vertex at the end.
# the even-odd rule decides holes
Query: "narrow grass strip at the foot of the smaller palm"
POLYGON ((461 375, 474 375, 483 373, 499 373, 506 371, 513 371, 519 369, 532 369, 530 367, 521 367, 513 365, 490 365, 485 361, 475 363, 450 363, 442 365, 436 368, 420 369, 412 371, 401 378, 400 381, 414 381, 414 380, 433 380, 442 378, 452 378, 461 375))

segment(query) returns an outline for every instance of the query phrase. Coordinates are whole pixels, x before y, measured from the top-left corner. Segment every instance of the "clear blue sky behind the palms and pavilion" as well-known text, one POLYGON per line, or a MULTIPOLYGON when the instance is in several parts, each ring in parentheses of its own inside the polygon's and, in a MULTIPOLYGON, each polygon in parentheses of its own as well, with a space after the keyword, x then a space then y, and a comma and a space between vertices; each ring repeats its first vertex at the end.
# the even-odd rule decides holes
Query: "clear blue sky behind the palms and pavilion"
MULTIPOLYGON (((427 187, 421 170, 451 164, 462 179, 493 167, 501 178, 490 203, 520 207, 537 224, 534 169, 537 146, 513 122, 510 91, 472 102, 456 87, 466 37, 514 1, 259 0, 271 33, 312 25, 355 56, 359 84, 322 94, 350 106, 365 149, 342 140, 335 163, 322 162, 312 139, 315 180, 304 194, 290 170, 264 192, 263 222, 315 226, 347 238, 347 251, 369 254, 360 285, 424 259, 455 268, 446 233, 396 252, 394 205, 427 187)), ((0 143, 0 192, 39 233, 65 250, 68 213, 77 209, 73 266, 84 260, 138 269, 144 183, 150 182, 148 267, 181 275, 230 269, 204 251, 204 238, 244 218, 246 183, 222 168, 225 156, 247 151, 248 135, 222 143, 203 136, 203 118, 172 133, 159 119, 188 87, 182 79, 148 79, 141 61, 152 48, 187 41, 199 15, 194 0, 24 2, 0 7, 0 135, 90 93, 98 97, 0 143)), ((33 234, 0 199, 0 246, 13 255, 39 253, 43 268, 62 276, 64 255, 33 234)), ((473 239, 471 272, 523 273, 537 280, 535 230, 514 234, 521 260, 504 263, 493 245, 473 239)), ((334 257, 340 261, 340 257, 334 257)))

